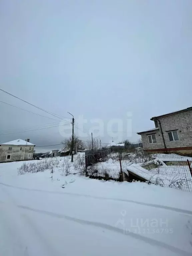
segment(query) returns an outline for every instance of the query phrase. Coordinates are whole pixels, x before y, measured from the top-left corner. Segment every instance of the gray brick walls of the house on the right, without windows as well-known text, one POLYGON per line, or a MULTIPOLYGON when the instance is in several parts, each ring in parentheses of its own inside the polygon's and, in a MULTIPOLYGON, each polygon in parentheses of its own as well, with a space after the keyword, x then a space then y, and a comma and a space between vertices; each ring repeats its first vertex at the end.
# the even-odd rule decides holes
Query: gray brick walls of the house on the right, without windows
MULTIPOLYGON (((158 119, 161 122, 167 148, 192 147, 192 110, 175 114, 173 113, 168 116, 159 117, 158 119), (167 131, 171 130, 177 130, 179 141, 169 141, 167 131)), ((159 122, 158 127, 158 131, 146 132, 141 135, 144 149, 164 148, 159 122), (157 143, 149 144, 147 135, 151 133, 156 133, 157 143)))

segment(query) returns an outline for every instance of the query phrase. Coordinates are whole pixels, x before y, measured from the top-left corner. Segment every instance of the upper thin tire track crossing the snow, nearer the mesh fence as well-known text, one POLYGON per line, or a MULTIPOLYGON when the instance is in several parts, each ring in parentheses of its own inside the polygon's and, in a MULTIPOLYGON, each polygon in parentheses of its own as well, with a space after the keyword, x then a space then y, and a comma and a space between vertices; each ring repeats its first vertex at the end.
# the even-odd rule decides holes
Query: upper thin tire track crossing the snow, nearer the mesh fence
POLYGON ((184 209, 179 209, 175 207, 170 207, 170 206, 165 206, 165 205, 159 205, 159 204, 150 204, 150 203, 143 203, 143 202, 138 202, 134 200, 129 200, 129 199, 121 199, 121 198, 111 198, 111 197, 100 197, 100 196, 91 196, 91 195, 85 195, 85 194, 78 194, 78 193, 71 193, 71 192, 57 192, 57 191, 48 191, 48 190, 41 190, 41 189, 31 189, 31 188, 22 188, 22 187, 17 187, 17 186, 12 186, 8 185, 5 183, 0 182, 1 185, 6 186, 6 187, 12 187, 12 188, 17 188, 17 189, 23 189, 27 191, 35 191, 35 192, 42 192, 42 193, 50 193, 50 194, 59 194, 59 195, 70 195, 70 196, 79 196, 79 197, 87 197, 87 198, 94 198, 94 199, 100 199, 100 200, 113 200, 113 201, 121 201, 121 202, 127 202, 127 203, 135 203, 139 205, 145 205, 145 206, 151 206, 154 208, 160 208, 160 209, 166 209, 166 210, 171 210, 174 212, 179 212, 179 213, 186 213, 192 215, 192 211, 189 210, 184 210, 184 209))

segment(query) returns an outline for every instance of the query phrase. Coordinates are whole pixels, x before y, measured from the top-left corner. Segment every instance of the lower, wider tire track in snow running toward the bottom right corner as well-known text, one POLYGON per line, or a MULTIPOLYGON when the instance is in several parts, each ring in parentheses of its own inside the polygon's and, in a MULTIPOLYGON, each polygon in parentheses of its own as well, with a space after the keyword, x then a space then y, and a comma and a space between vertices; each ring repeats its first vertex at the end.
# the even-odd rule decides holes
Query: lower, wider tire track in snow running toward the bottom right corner
POLYGON ((80 223, 80 224, 90 225, 90 226, 94 226, 94 227, 98 227, 98 228, 104 228, 104 229, 107 229, 109 231, 117 232, 117 233, 120 233, 120 234, 123 234, 123 235, 130 236, 132 238, 141 240, 141 241, 146 242, 146 243, 148 243, 152 246, 163 247, 163 248, 165 248, 165 249, 167 249, 171 252, 180 254, 182 256, 192 256, 192 253, 183 251, 182 249, 176 248, 172 245, 168 245, 166 243, 163 243, 163 242, 160 242, 160 241, 148 238, 148 237, 144 237, 144 236, 136 234, 136 233, 129 232, 129 233, 124 234, 123 229, 111 226, 109 224, 77 219, 77 218, 70 217, 70 216, 67 216, 67 215, 53 213, 53 212, 49 212, 49 211, 45 211, 45 210, 34 209, 34 208, 30 208, 28 206, 23 206, 23 205, 18 205, 17 207, 22 208, 22 209, 26 209, 26 210, 29 210, 29 211, 34 211, 34 212, 37 212, 37 213, 46 214, 46 215, 56 217, 56 218, 64 218, 66 220, 73 221, 73 222, 80 223))

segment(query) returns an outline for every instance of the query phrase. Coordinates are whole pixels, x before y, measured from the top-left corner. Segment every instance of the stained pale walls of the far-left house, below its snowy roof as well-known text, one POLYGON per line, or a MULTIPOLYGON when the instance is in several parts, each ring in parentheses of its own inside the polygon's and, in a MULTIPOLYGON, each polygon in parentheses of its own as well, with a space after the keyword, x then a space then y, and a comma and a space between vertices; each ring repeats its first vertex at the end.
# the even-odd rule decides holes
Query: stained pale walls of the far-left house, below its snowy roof
POLYGON ((15 146, 15 145, 1 145, 0 146, 0 162, 11 162, 18 160, 31 160, 33 159, 34 146, 15 146), (9 151, 9 147, 12 149, 9 151), (31 148, 31 150, 29 150, 31 148), (21 150, 20 150, 21 149, 21 150), (31 157, 28 158, 28 154, 31 157), (7 155, 11 155, 10 159, 6 159, 7 155))

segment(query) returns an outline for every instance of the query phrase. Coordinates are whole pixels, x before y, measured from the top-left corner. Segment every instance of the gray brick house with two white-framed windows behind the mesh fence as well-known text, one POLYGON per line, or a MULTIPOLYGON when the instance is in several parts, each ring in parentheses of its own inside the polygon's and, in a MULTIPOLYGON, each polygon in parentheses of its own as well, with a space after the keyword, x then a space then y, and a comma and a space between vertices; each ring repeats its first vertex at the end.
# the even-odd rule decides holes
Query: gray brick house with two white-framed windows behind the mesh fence
POLYGON ((155 128, 141 135, 147 151, 192 153, 192 107, 151 118, 155 128))

